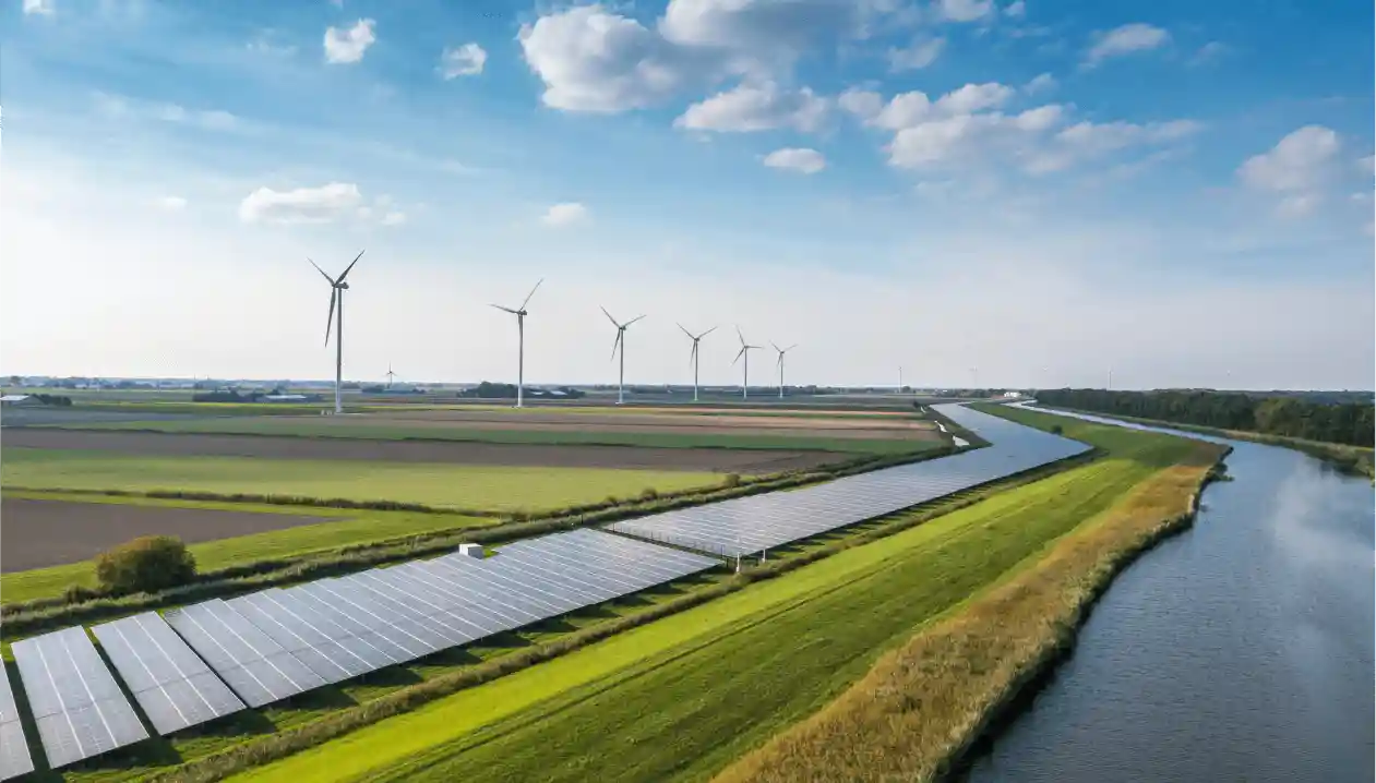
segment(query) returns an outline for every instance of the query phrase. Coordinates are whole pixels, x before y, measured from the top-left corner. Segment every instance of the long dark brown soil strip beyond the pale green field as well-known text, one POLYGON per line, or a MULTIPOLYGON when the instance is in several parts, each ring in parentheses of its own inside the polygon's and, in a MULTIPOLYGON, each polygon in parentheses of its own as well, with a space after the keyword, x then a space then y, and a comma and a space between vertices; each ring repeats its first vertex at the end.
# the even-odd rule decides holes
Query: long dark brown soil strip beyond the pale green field
POLYGON ((140 457, 263 457, 270 460, 363 460, 630 471, 772 473, 845 460, 827 451, 771 449, 654 449, 524 443, 363 440, 198 435, 121 431, 10 429, 6 447, 118 451, 140 457))

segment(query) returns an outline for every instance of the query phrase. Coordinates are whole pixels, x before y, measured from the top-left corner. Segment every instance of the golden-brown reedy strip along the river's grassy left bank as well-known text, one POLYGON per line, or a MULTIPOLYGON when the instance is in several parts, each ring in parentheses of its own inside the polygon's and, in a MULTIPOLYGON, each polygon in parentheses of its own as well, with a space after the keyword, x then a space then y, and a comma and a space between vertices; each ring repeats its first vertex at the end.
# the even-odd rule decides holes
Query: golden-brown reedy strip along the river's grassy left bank
MULTIPOLYGON (((1006 411, 1082 436, 1084 422, 1006 411)), ((998 586, 882 656, 810 718, 776 735, 714 783, 933 780, 949 776, 1069 651, 1113 577, 1163 538, 1189 528, 1226 447, 1197 443, 1014 570, 998 586)))

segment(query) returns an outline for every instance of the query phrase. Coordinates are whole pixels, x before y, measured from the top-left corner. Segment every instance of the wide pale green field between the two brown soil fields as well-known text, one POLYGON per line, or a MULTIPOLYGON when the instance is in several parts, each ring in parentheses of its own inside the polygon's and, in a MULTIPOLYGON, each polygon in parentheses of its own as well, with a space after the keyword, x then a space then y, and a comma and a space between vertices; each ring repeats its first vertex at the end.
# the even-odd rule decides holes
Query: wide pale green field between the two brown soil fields
POLYGON ((139 457, 107 451, 7 449, 6 484, 61 490, 184 490, 402 501, 435 508, 545 511, 632 497, 647 489, 678 491, 721 482, 717 473, 263 460, 256 457, 139 457))

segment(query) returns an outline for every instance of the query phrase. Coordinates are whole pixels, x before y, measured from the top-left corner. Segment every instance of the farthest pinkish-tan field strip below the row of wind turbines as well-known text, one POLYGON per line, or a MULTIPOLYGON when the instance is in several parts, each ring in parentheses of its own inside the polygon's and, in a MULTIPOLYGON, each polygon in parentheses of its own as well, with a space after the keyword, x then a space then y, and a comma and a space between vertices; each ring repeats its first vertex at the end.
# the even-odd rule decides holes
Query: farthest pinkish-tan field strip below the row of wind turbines
POLYGON ((695 433, 768 435, 793 438, 854 438, 860 440, 932 439, 938 436, 930 421, 918 418, 864 420, 815 418, 790 416, 702 416, 692 413, 508 413, 498 410, 416 410, 367 414, 377 424, 406 422, 464 429, 508 429, 544 432, 625 432, 625 433, 695 433))

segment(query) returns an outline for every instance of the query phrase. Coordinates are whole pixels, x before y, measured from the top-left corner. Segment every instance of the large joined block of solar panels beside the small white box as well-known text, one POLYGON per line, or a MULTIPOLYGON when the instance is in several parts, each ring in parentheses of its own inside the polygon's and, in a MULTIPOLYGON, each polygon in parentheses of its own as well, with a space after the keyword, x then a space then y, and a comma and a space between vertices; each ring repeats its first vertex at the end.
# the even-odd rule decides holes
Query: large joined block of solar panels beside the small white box
POLYGON ((718 566, 574 530, 165 612, 249 705, 424 658, 718 566))

